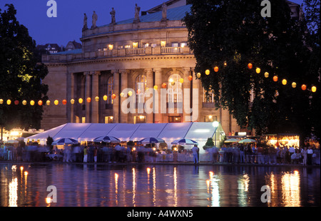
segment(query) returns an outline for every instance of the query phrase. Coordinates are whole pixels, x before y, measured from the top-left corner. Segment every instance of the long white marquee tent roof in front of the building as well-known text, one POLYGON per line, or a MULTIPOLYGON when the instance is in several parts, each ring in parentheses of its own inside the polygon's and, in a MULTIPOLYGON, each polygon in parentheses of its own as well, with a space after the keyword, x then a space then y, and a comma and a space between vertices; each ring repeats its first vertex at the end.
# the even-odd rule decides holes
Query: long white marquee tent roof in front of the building
POLYGON ((46 130, 43 133, 25 138, 25 142, 39 141, 46 144, 48 136, 57 140, 59 138, 73 138, 81 141, 92 141, 99 136, 114 136, 122 141, 142 140, 143 138, 162 138, 171 146, 173 140, 188 138, 198 142, 200 150, 203 150, 208 138, 222 140, 225 135, 221 125, 214 128, 212 123, 188 122, 188 123, 66 123, 56 128, 46 130), (216 133, 215 133, 216 131, 216 133))

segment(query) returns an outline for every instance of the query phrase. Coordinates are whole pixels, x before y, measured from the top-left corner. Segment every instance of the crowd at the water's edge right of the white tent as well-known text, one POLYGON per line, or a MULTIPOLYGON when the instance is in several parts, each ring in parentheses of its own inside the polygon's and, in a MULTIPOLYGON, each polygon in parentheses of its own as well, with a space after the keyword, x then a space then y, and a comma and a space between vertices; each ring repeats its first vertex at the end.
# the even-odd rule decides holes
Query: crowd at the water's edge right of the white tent
POLYGON ((213 163, 320 165, 320 148, 316 148, 315 145, 302 148, 287 145, 223 145, 222 148, 210 148, 207 153, 213 163))

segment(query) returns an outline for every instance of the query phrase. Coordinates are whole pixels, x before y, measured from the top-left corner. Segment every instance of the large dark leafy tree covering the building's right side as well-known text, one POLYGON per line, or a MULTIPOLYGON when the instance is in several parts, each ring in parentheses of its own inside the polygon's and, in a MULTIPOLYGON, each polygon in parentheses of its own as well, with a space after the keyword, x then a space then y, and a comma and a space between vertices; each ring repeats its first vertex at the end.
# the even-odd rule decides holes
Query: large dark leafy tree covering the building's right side
POLYGON ((304 43, 305 26, 291 18, 285 0, 270 2, 272 16, 263 18, 258 0, 190 0, 190 13, 183 21, 196 59, 195 73, 201 73, 205 90, 213 91, 218 106, 228 108, 238 125, 258 134, 306 135, 311 128, 311 93, 300 86, 317 78, 306 71, 311 52, 304 43), (282 79, 288 81, 286 86, 282 79), (292 81, 297 88, 291 87, 292 81))

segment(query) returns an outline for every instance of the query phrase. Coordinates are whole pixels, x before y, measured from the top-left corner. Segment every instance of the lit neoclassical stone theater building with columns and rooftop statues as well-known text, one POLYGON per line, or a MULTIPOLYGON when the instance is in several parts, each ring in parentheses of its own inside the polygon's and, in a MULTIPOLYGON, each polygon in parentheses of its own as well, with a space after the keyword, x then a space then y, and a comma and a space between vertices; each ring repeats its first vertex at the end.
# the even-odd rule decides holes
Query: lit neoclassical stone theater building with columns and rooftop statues
MULTIPOLYGON (((49 85, 51 105, 44 106, 41 128, 47 130, 64 123, 217 120, 225 133, 246 131, 228 110, 217 108, 213 94, 205 93, 195 78, 195 57, 187 46, 188 30, 181 21, 190 5, 185 0, 170 0, 165 6, 142 11, 139 17, 133 13, 132 19, 112 20, 103 26, 96 26, 96 21, 91 22, 88 16, 90 25, 87 27, 85 18, 81 49, 43 55, 42 61, 49 68, 44 83, 49 85), (122 104, 125 102, 126 106, 128 101, 128 93, 122 93, 126 88, 133 91, 135 111, 131 113, 122 111, 122 104), (161 95, 162 88, 167 90, 165 106, 161 96, 154 96, 151 106, 158 106, 158 111, 142 111, 140 105, 149 99, 144 92, 157 90, 161 95), (54 99, 58 105, 54 105, 54 99), (174 103, 174 111, 170 102, 174 103), (161 106, 163 111, 159 110, 161 106), (185 106, 193 108, 193 112, 182 111, 185 106)), ((297 14, 298 5, 290 6, 297 14)))

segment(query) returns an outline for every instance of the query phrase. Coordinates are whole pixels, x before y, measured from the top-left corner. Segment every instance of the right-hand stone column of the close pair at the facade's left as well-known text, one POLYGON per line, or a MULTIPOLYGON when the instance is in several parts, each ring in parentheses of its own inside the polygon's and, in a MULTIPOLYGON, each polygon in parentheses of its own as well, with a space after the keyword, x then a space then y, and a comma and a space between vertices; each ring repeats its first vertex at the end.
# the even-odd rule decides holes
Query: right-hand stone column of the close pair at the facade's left
POLYGON ((95 101, 96 96, 99 96, 99 75, 100 71, 92 71, 92 83, 91 83, 91 123, 99 123, 99 103, 95 101))

